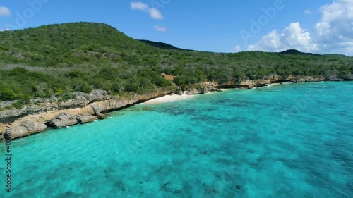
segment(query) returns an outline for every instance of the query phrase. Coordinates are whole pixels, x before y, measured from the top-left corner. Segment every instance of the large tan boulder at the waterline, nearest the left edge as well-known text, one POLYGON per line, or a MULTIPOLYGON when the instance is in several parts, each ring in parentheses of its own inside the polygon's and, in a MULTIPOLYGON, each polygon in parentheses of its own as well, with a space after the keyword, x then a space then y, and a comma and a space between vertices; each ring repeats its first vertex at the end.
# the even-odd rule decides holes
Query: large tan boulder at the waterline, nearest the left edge
POLYGON ((38 132, 43 132, 47 129, 44 123, 24 122, 11 127, 11 139, 16 137, 24 137, 38 132))

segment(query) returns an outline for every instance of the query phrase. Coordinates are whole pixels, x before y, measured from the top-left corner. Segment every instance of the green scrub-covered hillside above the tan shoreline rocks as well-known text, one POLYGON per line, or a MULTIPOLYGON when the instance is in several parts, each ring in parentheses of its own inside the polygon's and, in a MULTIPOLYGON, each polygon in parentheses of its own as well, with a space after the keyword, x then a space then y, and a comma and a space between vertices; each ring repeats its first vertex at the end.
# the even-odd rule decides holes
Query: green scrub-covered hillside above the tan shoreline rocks
POLYGON ((151 44, 102 23, 0 32, 0 100, 54 95, 67 99, 71 92, 92 89, 140 94, 172 85, 161 73, 175 75, 174 83, 187 87, 206 80, 223 83, 229 78, 272 74, 343 76, 353 72, 353 58, 335 54, 225 54, 151 44))

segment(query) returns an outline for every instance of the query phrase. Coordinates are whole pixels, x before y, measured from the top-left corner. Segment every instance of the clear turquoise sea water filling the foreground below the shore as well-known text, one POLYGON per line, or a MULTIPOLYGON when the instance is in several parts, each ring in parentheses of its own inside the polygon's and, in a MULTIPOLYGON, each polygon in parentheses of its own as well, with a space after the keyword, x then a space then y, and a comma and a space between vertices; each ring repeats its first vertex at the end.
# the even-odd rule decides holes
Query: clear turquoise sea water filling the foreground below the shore
POLYGON ((139 104, 13 140, 1 196, 353 197, 352 107, 352 82, 139 104))

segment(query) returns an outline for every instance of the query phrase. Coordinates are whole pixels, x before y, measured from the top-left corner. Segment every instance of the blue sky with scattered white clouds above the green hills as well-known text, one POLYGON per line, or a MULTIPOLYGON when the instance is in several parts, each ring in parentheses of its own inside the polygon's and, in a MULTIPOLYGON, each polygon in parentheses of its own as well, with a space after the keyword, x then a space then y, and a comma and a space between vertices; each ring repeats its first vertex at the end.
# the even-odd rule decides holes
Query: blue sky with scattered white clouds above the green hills
POLYGON ((353 0, 3 0, 0 30, 88 21, 185 49, 353 56, 352 15, 353 0))

